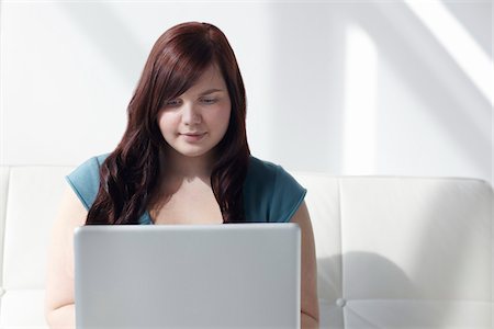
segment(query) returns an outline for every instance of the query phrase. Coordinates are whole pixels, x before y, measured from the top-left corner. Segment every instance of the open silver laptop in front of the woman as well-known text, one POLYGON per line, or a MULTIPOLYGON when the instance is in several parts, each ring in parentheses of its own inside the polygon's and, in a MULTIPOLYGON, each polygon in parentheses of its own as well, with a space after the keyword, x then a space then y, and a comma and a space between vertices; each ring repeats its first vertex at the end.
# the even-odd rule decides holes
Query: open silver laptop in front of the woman
POLYGON ((296 224, 82 226, 77 329, 299 328, 296 224))

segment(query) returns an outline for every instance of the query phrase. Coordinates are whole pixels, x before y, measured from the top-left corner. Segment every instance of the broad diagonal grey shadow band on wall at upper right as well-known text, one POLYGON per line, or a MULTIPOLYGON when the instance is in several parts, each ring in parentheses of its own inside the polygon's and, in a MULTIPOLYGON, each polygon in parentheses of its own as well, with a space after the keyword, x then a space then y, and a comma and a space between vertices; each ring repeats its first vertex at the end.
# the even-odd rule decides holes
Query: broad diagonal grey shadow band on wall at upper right
POLYGON ((404 3, 377 3, 351 13, 417 99, 430 110, 428 114, 436 118, 436 124, 448 133, 465 158, 485 171, 483 163, 485 150, 491 147, 492 129, 486 129, 480 117, 487 117, 492 106, 451 55, 404 3))

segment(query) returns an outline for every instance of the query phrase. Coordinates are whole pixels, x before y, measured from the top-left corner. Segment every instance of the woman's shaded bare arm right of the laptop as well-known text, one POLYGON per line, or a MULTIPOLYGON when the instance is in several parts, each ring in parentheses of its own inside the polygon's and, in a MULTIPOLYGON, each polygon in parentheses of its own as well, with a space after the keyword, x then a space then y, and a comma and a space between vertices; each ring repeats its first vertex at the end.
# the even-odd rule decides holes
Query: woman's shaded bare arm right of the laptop
POLYGON ((301 252, 301 328, 318 328, 319 306, 317 299, 317 264, 314 234, 307 206, 303 202, 291 223, 299 224, 302 234, 301 252))

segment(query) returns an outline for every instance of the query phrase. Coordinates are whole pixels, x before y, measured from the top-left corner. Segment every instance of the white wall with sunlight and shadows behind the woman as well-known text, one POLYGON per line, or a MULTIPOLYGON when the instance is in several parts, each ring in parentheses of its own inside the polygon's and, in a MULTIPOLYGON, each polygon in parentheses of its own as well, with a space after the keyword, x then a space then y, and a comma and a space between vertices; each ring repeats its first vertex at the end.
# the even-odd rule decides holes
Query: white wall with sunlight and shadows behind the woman
POLYGON ((1 164, 113 149, 154 42, 193 20, 222 29, 237 55, 254 155, 291 170, 492 183, 492 1, 438 4, 453 20, 433 22, 475 47, 458 33, 448 44, 401 1, 4 1, 1 164))

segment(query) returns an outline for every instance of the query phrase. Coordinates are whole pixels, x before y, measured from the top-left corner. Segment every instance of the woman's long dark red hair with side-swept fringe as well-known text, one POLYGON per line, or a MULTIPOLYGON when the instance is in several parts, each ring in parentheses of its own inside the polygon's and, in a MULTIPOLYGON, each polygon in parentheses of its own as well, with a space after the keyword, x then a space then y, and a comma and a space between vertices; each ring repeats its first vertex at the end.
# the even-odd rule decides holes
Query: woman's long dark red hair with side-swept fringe
POLYGON ((138 224, 156 193, 159 152, 166 141, 157 115, 162 105, 186 92, 210 66, 216 65, 232 102, 229 125, 216 146, 218 158, 211 185, 223 222, 244 222, 243 185, 249 147, 246 97, 240 70, 225 35, 207 23, 182 23, 155 43, 128 104, 122 140, 100 168, 100 188, 86 220, 90 224, 138 224))

